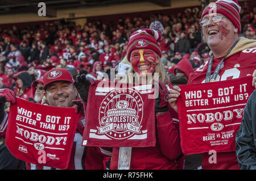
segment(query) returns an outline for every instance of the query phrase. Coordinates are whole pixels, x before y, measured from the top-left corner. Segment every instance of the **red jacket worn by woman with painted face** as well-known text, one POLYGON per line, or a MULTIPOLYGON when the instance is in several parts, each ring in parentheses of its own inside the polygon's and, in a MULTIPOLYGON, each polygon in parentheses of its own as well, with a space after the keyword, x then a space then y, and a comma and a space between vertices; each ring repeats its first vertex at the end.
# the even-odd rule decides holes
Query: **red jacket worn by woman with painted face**
MULTIPOLYGON (((156 146, 132 148, 130 170, 179 169, 180 136, 170 112, 156 115, 156 146)), ((110 169, 118 168, 119 148, 113 148, 110 169)))

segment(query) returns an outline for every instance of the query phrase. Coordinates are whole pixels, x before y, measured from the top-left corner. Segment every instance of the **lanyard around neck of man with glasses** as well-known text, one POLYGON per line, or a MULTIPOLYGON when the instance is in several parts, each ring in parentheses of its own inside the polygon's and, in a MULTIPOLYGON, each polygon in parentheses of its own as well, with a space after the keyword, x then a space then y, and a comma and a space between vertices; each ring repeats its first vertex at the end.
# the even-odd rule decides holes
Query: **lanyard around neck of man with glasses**
POLYGON ((212 61, 213 61, 213 54, 210 55, 209 58, 209 64, 208 64, 208 68, 207 68, 207 74, 205 77, 205 82, 215 82, 217 75, 220 71, 220 69, 222 68, 222 65, 224 65, 224 59, 226 58, 226 56, 228 56, 228 54, 231 52, 231 50, 236 46, 236 44, 238 43, 240 39, 238 39, 233 45, 232 47, 228 50, 228 53, 226 53, 226 55, 224 56, 224 58, 222 58, 222 60, 220 61, 220 63, 217 65, 217 68, 214 70, 213 74, 210 75, 211 71, 212 71, 212 61))

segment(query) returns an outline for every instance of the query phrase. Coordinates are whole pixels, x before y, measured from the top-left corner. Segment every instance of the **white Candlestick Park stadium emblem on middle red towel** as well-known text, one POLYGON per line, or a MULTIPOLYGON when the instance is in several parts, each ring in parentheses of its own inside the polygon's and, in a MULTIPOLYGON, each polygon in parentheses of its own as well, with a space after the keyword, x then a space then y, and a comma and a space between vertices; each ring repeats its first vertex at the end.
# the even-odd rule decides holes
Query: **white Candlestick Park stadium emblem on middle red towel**
POLYGON ((133 89, 115 89, 102 100, 98 134, 114 139, 124 139, 141 133, 143 101, 133 89), (128 90, 128 91, 127 91, 128 90))

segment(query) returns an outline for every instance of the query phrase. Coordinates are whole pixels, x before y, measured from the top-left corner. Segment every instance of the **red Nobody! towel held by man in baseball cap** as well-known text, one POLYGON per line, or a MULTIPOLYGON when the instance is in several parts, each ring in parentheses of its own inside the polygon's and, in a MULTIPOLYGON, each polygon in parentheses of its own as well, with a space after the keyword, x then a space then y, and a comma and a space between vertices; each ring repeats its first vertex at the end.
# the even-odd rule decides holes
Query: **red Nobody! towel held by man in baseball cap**
POLYGON ((16 98, 16 104, 10 106, 6 146, 23 161, 67 169, 78 119, 75 108, 16 98))

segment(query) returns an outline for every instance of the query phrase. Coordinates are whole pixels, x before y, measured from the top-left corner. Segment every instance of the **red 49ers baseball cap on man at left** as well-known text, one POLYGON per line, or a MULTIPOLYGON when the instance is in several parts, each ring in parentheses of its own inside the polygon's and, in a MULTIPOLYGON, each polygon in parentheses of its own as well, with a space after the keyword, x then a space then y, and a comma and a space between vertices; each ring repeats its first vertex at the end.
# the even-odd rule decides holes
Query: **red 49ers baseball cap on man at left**
POLYGON ((44 77, 43 77, 43 82, 44 82, 43 89, 46 90, 46 86, 49 85, 49 83, 52 83, 55 81, 68 81, 73 83, 73 77, 71 73, 68 71, 68 69, 49 70, 47 71, 47 73, 44 74, 44 77))

